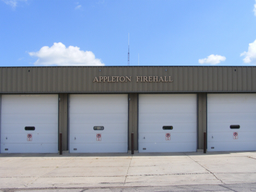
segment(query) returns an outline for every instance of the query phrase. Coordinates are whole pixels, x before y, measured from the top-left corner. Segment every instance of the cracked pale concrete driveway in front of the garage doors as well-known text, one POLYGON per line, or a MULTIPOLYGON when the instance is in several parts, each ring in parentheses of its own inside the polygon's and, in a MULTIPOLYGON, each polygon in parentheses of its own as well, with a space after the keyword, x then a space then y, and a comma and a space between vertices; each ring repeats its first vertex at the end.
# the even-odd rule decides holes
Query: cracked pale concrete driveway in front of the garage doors
POLYGON ((0 154, 0 189, 254 183, 256 152, 0 154))

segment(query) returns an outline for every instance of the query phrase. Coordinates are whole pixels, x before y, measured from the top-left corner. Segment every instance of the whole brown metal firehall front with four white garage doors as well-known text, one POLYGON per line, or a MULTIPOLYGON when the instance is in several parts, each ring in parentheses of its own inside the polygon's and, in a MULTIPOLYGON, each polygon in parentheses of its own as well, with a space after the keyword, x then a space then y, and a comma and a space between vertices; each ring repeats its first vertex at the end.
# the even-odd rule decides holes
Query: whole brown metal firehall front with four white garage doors
POLYGON ((256 150, 256 67, 0 67, 0 153, 256 150), (60 139, 62 135, 62 139, 60 139))

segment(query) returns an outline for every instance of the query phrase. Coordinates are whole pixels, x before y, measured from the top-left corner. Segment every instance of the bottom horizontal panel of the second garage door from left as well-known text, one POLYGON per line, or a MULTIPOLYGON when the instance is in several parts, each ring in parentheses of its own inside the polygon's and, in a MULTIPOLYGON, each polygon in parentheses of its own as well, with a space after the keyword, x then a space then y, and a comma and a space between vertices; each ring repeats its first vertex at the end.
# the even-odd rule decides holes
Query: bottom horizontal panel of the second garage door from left
POLYGON ((100 143, 71 143, 69 153, 127 153, 127 147, 117 143, 109 143, 108 145, 100 143))

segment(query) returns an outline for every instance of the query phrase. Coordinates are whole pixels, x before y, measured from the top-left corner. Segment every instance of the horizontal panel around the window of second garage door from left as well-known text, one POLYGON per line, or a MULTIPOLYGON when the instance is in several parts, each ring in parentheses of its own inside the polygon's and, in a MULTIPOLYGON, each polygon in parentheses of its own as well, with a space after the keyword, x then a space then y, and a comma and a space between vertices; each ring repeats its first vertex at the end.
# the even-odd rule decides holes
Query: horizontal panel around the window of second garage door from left
POLYGON ((104 130, 107 130, 108 133, 127 133, 126 127, 127 124, 124 123, 102 123, 102 124, 81 124, 81 123, 77 123, 77 124, 73 124, 72 126, 72 132, 73 133, 80 133, 81 130, 86 129, 86 132, 88 133, 95 133, 95 130, 93 129, 94 126, 103 126, 104 130), (122 129, 123 127, 123 129, 122 129))

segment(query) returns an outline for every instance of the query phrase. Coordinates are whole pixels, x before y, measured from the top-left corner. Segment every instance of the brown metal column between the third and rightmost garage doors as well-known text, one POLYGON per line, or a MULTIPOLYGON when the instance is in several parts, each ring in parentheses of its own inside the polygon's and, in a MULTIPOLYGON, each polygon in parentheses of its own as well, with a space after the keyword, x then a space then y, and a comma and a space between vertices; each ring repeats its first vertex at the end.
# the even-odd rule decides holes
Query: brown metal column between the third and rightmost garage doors
POLYGON ((205 92, 197 94, 197 139, 198 148, 203 149, 203 132, 207 127, 207 94, 205 92))

